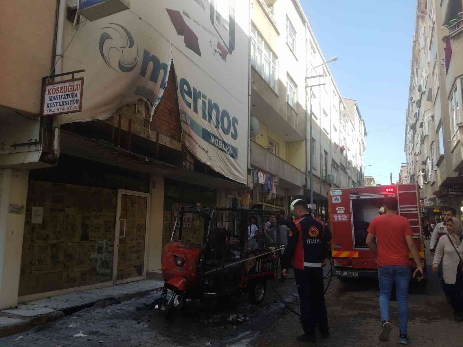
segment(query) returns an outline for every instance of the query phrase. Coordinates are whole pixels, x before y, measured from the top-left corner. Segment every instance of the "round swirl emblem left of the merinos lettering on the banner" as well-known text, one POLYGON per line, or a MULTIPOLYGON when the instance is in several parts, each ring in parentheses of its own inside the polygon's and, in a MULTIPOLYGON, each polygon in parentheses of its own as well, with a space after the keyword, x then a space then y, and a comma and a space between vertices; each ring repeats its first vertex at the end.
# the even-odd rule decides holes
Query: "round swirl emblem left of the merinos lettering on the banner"
POLYGON ((101 33, 98 45, 100 55, 106 65, 118 73, 132 71, 138 63, 138 45, 134 47, 130 31, 116 23, 110 23, 101 29, 106 31, 101 33), (111 54, 114 55, 114 50, 119 52, 117 65, 111 61, 111 54))

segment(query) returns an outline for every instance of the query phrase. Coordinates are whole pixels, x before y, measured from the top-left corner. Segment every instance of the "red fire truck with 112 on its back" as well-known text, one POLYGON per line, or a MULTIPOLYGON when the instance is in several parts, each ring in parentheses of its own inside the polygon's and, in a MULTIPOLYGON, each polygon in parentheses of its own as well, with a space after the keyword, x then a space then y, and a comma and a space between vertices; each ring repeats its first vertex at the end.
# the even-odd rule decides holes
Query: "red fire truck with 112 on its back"
MULTIPOLYGON (((333 234, 332 271, 341 281, 378 277, 376 256, 366 244, 366 238, 369 223, 379 215, 378 210, 387 196, 397 198, 398 214, 410 222, 413 240, 425 272, 425 283, 425 246, 421 229, 419 187, 416 183, 332 189, 328 192, 330 227, 333 234)), ((416 266, 411 253, 409 257, 414 271, 416 266)))

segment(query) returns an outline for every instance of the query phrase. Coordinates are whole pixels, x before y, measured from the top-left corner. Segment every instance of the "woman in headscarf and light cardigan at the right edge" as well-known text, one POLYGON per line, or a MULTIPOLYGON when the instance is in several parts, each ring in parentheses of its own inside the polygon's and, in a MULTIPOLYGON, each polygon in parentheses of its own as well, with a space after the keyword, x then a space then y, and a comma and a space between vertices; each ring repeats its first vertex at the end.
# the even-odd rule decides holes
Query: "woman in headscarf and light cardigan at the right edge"
POLYGON ((463 322, 463 230, 457 218, 447 219, 446 226, 447 235, 439 239, 432 271, 437 273, 438 265, 444 258, 444 282, 450 293, 453 314, 458 321, 463 322))

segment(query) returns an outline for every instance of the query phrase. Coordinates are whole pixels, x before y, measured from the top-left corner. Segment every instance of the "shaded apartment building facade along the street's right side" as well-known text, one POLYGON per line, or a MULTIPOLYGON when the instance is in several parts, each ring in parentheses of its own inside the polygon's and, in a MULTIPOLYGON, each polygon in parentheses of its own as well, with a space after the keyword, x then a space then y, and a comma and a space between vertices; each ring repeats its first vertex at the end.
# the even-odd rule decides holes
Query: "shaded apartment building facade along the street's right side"
POLYGON ((404 149, 428 217, 442 206, 462 215, 462 18, 460 0, 417 1, 404 149))

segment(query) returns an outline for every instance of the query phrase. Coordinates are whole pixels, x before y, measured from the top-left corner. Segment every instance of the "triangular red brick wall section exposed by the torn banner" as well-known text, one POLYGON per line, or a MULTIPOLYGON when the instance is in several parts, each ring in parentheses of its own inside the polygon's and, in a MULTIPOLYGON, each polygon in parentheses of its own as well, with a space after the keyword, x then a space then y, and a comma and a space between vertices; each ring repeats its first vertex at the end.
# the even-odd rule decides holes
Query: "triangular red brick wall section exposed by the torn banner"
POLYGON ((178 106, 177 89, 175 86, 175 69, 171 64, 169 79, 163 97, 156 106, 150 130, 180 141, 180 109, 178 106))

